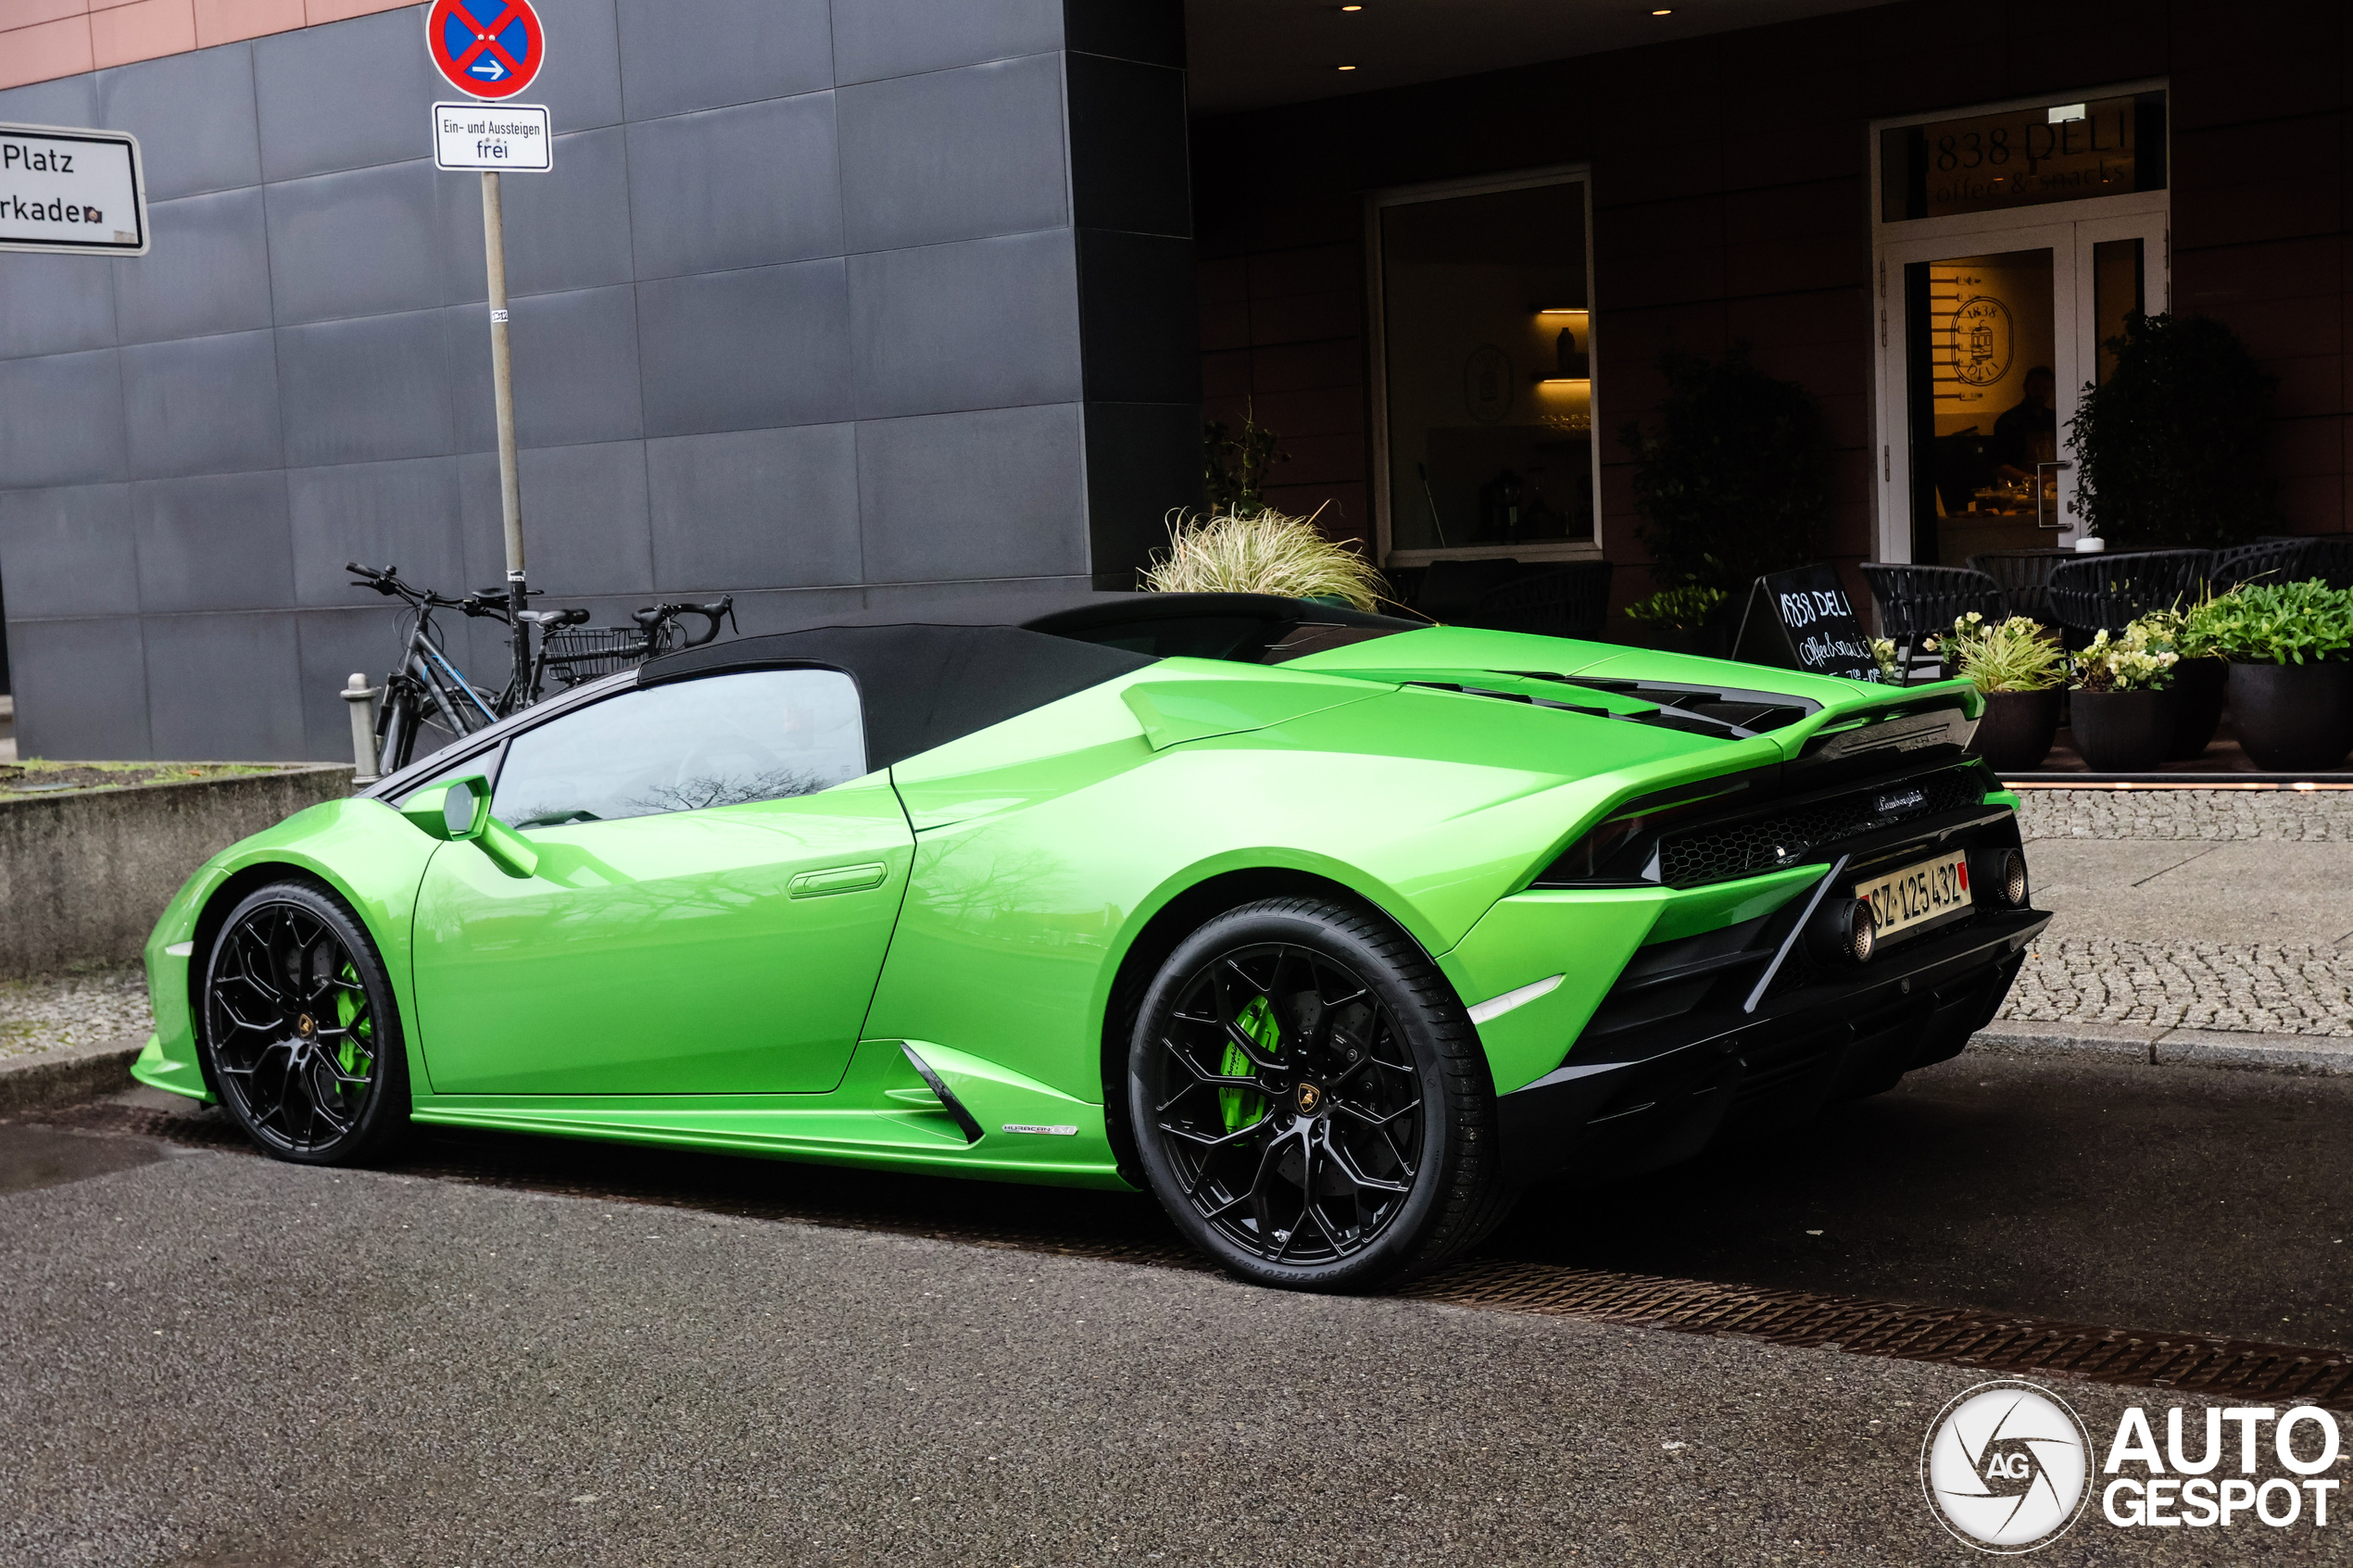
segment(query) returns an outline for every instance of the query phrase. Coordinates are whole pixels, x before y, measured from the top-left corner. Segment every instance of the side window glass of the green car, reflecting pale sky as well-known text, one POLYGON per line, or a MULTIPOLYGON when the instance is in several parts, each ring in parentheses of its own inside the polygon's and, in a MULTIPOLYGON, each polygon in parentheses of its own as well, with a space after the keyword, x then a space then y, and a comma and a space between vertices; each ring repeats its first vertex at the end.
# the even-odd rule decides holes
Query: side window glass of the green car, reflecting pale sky
POLYGON ((840 670, 744 670, 624 691, 506 745, 492 811, 511 827, 814 795, 866 773, 859 689, 840 670))

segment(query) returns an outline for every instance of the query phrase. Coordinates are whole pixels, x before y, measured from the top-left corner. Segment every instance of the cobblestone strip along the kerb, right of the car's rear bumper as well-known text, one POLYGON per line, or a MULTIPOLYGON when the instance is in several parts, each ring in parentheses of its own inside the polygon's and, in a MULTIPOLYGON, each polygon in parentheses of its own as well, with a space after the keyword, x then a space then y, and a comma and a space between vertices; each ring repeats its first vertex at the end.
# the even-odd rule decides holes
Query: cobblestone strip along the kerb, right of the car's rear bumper
POLYGON ((2040 943, 2002 1018, 2353 1034, 2353 952, 2219 943, 2040 943))

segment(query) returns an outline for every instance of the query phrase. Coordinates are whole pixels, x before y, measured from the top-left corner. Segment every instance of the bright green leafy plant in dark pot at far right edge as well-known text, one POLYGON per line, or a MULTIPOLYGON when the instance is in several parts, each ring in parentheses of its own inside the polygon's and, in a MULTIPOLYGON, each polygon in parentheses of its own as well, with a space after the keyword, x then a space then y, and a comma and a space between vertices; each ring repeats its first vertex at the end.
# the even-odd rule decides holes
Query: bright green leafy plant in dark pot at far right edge
POLYGON ((2353 590, 2247 583, 2200 614, 2231 661, 2231 717, 2254 766, 2304 773, 2353 752, 2353 590))

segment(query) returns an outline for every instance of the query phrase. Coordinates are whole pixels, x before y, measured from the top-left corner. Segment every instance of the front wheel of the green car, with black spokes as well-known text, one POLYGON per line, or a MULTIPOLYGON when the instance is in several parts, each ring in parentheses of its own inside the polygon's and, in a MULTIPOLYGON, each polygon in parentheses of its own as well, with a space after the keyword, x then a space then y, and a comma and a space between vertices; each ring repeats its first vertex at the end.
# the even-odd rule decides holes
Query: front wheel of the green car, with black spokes
POLYGON ((376 945, 308 882, 247 893, 205 957, 205 1070, 264 1154, 348 1166, 409 1124, 400 1013, 376 945))

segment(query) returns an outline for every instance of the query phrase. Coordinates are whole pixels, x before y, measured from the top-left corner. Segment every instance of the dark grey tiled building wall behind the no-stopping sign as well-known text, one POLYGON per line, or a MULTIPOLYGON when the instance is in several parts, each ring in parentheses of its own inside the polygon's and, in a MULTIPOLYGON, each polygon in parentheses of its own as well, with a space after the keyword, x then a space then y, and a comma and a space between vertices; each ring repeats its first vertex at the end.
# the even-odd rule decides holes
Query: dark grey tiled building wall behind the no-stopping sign
MULTIPOLYGON (((1198 489, 1179 0, 541 12, 555 174, 504 183, 536 585, 734 590, 753 632, 1132 581, 1198 489)), ((480 186, 421 158, 419 31, 0 92, 136 132, 155 233, 0 256, 24 752, 341 757, 395 646, 341 564, 499 581, 480 186)))

